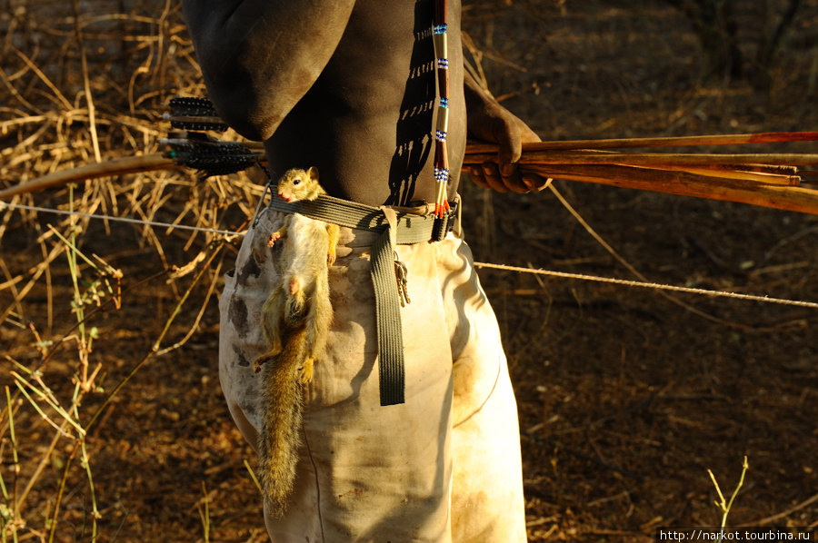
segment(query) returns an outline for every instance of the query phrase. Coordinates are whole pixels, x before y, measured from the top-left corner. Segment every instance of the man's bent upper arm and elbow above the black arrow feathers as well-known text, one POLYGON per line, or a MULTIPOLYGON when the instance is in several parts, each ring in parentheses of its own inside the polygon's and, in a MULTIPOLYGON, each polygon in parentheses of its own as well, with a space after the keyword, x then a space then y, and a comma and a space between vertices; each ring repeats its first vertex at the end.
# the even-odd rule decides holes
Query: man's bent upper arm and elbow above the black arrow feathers
POLYGON ((252 140, 272 135, 344 34, 354 0, 183 0, 216 110, 252 140))

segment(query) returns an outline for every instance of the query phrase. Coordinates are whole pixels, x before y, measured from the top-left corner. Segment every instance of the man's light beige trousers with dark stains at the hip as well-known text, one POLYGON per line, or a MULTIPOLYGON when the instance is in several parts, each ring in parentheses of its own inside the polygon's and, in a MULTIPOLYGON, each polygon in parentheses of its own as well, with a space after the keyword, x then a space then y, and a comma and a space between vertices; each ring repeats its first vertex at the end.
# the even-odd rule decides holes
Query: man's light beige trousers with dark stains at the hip
MULTIPOLYGON (((267 350, 261 310, 276 269, 264 210, 226 276, 219 372, 255 446, 264 412, 252 362, 267 350)), ((341 229, 330 269, 334 323, 305 390, 304 446, 291 505, 265 515, 274 543, 525 541, 520 437, 497 321, 472 254, 454 234, 397 247, 411 303, 401 313, 406 402, 381 407, 374 234, 341 229)))

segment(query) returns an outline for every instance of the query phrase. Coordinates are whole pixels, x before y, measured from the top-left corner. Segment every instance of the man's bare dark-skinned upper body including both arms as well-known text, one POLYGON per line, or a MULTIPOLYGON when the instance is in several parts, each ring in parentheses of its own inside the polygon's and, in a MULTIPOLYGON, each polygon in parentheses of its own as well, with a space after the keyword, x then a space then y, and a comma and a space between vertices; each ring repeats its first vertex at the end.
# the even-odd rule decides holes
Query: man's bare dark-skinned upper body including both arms
MULTIPOLYGON (((371 205, 434 202, 432 1, 183 0, 210 99, 234 129, 264 141, 275 177, 317 166, 330 194, 371 205)), ((521 177, 521 147, 539 138, 464 76, 460 3, 448 2, 449 164, 459 177, 468 136, 498 143, 472 172, 499 192, 521 177)), ((454 197, 456 183, 450 183, 454 197)))

